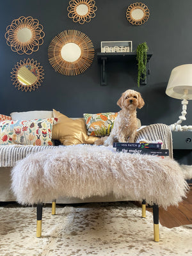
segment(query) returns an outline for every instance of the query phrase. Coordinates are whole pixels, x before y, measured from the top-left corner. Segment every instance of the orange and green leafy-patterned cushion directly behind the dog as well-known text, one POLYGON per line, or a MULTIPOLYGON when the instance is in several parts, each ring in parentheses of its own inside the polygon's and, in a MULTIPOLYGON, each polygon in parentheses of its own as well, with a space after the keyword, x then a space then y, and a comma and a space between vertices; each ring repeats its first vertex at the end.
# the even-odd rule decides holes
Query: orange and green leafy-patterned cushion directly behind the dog
POLYGON ((114 112, 98 114, 84 113, 83 117, 86 123, 87 134, 98 137, 109 135, 117 115, 118 113, 114 112))

